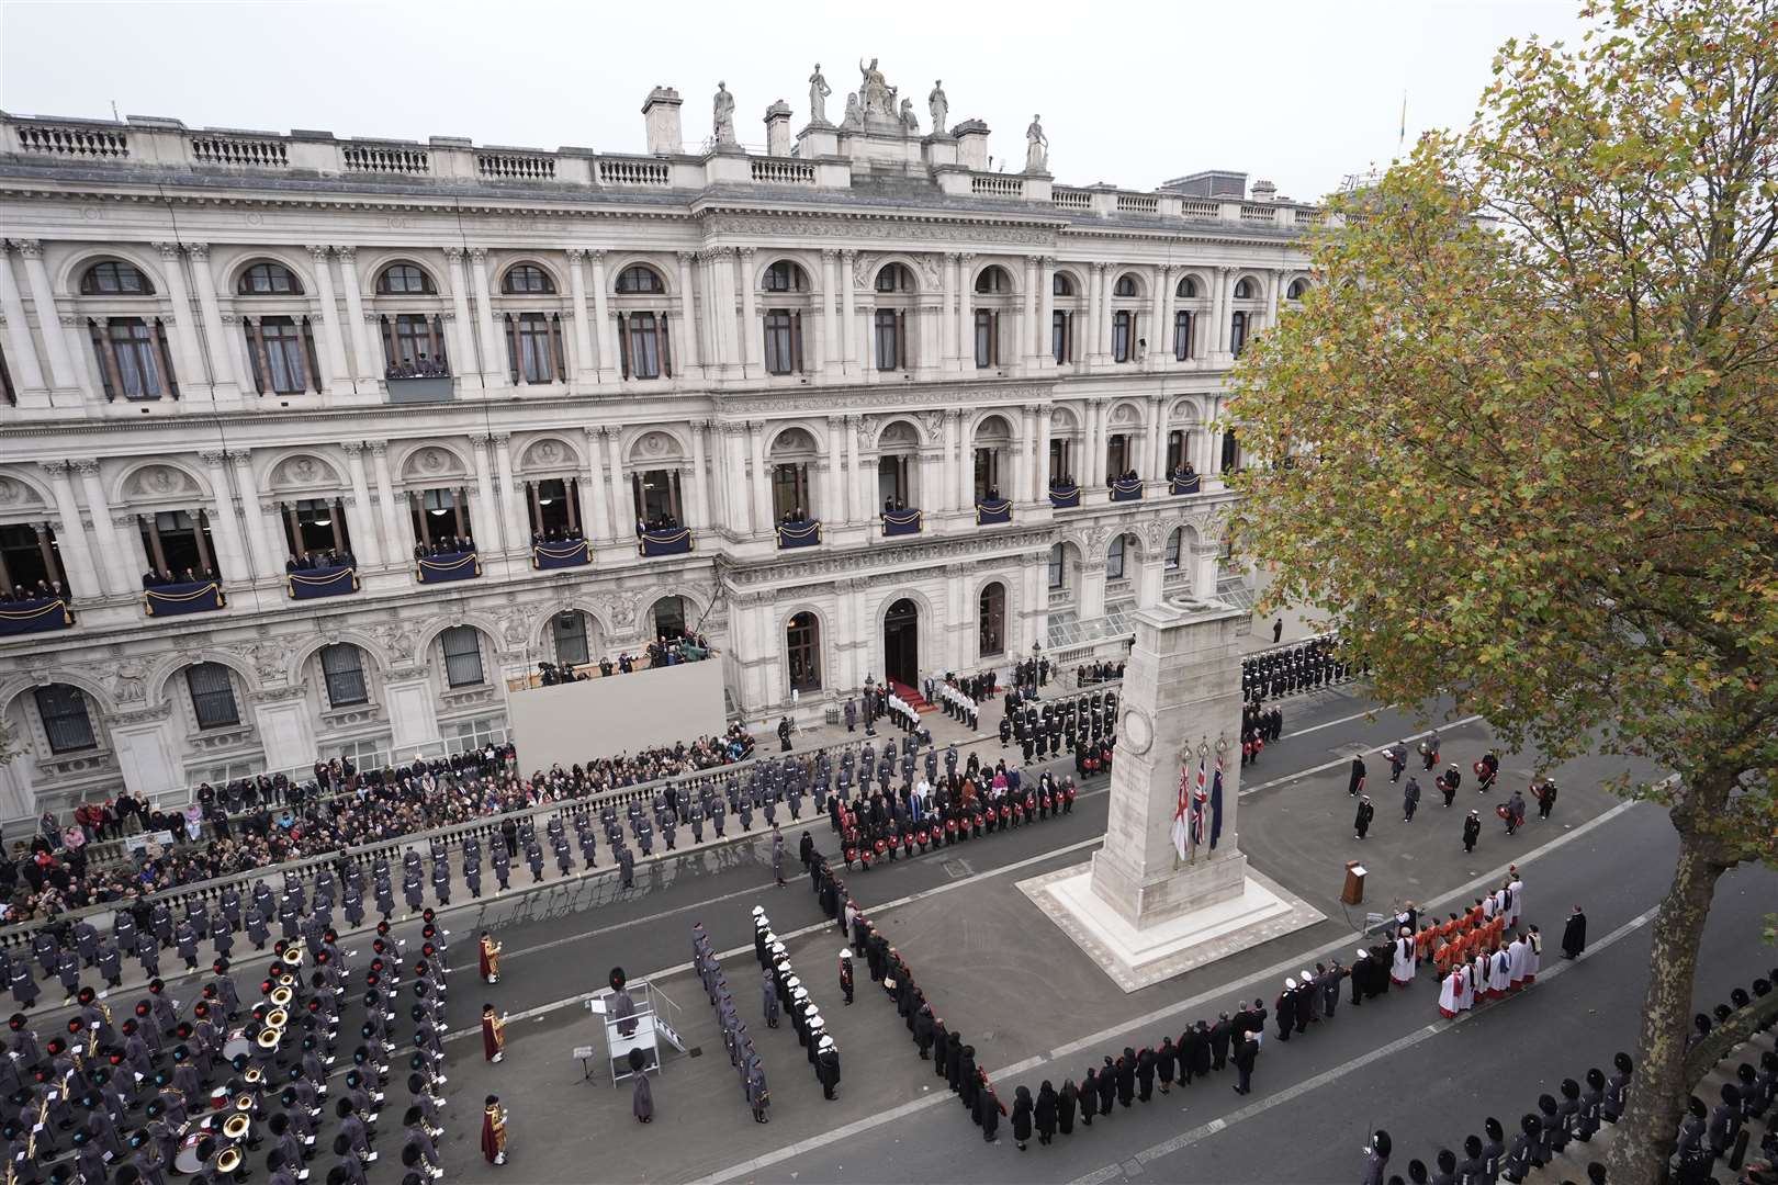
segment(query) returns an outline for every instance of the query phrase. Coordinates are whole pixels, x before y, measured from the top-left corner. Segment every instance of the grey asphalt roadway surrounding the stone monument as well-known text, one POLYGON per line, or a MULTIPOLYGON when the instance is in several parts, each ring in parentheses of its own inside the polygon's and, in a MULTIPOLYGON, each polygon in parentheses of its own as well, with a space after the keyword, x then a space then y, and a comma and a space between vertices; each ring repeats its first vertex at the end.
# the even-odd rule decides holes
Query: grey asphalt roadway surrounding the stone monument
MULTIPOLYGON (((1305 961, 1328 952, 1350 961, 1362 917, 1353 911, 1348 922, 1337 903, 1346 858, 1373 869, 1369 910, 1406 899, 1460 908, 1515 862, 1526 876, 1527 920, 1547 933, 1559 933, 1572 904, 1586 903, 1597 934, 1586 959, 1463 1022, 1438 1023, 1426 975, 1389 1000, 1342 1007, 1335 1022, 1287 1046, 1268 1045, 1257 1094, 1248 1100, 1211 1082, 1175 1089, 1166 1107, 1138 1105, 1111 1125, 1077 1128, 1054 1148, 1033 1144, 1017 1153, 1005 1126, 1001 1144, 990 1148, 932 1066, 916 1057, 862 963, 857 1004, 841 1004, 839 934, 823 924, 805 879, 772 887, 766 846, 756 842, 722 858, 704 853, 681 858, 672 871, 663 865, 645 895, 603 904, 596 917, 564 904, 557 917, 501 926, 501 982, 478 991, 514 1018, 509 1054, 503 1064, 489 1066, 477 1041, 452 1043, 452 1089, 464 1098, 459 1114, 473 1116, 489 1091, 501 1094, 512 1114, 512 1158, 501 1169, 507 1181, 1109 1181, 1152 1174, 1300 1183, 1355 1178, 1360 1135, 1376 1125, 1398 1132, 1405 1157, 1430 1160, 1440 1142, 1456 1146, 1479 1130, 1485 1114, 1517 1116, 1550 1082, 1609 1064, 1611 1052, 1634 1039, 1646 919, 1666 887, 1673 837, 1657 810, 1618 803, 1597 789, 1622 762, 1584 759, 1556 771, 1563 794, 1550 821, 1533 821, 1508 839, 1488 817, 1472 856, 1458 839, 1460 810, 1492 805, 1474 791, 1462 792, 1449 812, 1437 798, 1431 805, 1422 799, 1414 823, 1401 823, 1389 796, 1373 794, 1378 821, 1371 839, 1353 840, 1344 792, 1350 752, 1376 750, 1421 727, 1419 714, 1369 704, 1351 688, 1294 700, 1287 736, 1246 773, 1241 842, 1259 871, 1330 919, 1133 995, 1118 991, 1015 888, 1017 879, 1079 863, 1097 846, 1106 817, 1099 787, 1085 792, 1069 817, 853 872, 846 883, 909 959, 935 1011, 976 1045, 1003 1100, 1021 1082, 1035 1087, 1045 1077, 1058 1084, 1077 1077, 1101 1052, 1157 1043, 1163 1032, 1177 1036, 1186 1020, 1213 1020, 1236 998, 1262 997, 1269 1006, 1284 975, 1305 961), (756 903, 786 934, 839 1045, 836 1101, 821 1100, 795 1034, 757 1023, 759 968, 749 938, 756 903), (715 1014, 690 975, 693 920, 704 924, 718 952, 733 950, 722 961, 765 1061, 770 1125, 752 1121, 715 1014), (651 979, 677 1002, 681 1032, 697 1050, 665 1059, 654 1082, 656 1119, 647 1128, 629 1119, 628 1089, 613 1089, 597 1073, 583 1080, 580 1062, 569 1057, 578 1045, 599 1043, 583 1000, 613 965, 633 979, 651 979), (562 1114, 573 1116, 573 1137, 551 1125, 562 1114), (1259 1117, 1266 1121, 1250 1123, 1259 1117), (1280 1130, 1289 1139, 1271 1137, 1280 1130), (1189 1139, 1181 1142, 1182 1135, 1189 1139), (1417 1144, 1424 1146, 1410 1153, 1417 1144)), ((1442 737, 1447 760, 1465 766, 1490 744, 1481 721, 1446 725, 1442 737)), ((1387 767, 1376 775, 1380 764, 1371 762, 1373 785, 1387 785, 1387 767)), ((1502 785, 1524 785, 1529 773, 1529 757, 1502 755, 1502 785)), ((811 833, 832 849, 825 823, 811 833)), ((791 847, 797 837, 788 833, 791 847)), ((1774 892, 1769 872, 1725 878, 1707 936, 1702 1000, 1714 1004, 1769 963, 1769 952, 1750 938, 1760 917, 1751 903, 1774 892)), ((1545 968, 1559 963, 1556 943, 1549 947, 1545 968)), ((493 1180, 473 1130, 446 1137, 444 1164, 453 1180, 493 1180)))

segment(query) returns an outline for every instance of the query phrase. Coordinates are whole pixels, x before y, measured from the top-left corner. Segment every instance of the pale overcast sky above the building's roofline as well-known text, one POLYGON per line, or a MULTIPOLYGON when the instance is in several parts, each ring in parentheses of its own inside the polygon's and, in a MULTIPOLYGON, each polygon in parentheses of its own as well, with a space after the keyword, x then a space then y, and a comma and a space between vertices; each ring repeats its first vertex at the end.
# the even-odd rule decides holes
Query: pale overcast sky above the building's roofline
POLYGON ((340 137, 644 151, 654 84, 736 94, 743 142, 788 99, 809 114, 823 64, 839 119, 861 55, 914 98, 944 78, 951 121, 981 117, 989 151, 1024 162, 1044 115, 1070 185, 1152 188, 1239 169, 1312 199, 1387 165, 1406 91, 1419 130, 1467 123, 1506 37, 1577 37, 1575 0, 1268 0, 1229 4, 0 4, 0 107, 14 114, 171 115, 188 126, 340 137))

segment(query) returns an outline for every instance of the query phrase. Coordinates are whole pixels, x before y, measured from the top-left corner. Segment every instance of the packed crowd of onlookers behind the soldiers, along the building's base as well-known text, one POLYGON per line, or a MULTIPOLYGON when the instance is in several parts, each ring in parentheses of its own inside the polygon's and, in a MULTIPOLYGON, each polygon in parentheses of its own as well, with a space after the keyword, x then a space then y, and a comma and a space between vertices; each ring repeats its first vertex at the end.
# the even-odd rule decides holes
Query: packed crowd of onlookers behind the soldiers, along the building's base
POLYGON ((546 801, 681 776, 743 760, 754 737, 722 736, 519 773, 510 744, 448 759, 357 769, 316 762, 313 780, 283 773, 203 783, 180 810, 121 794, 82 803, 62 824, 44 812, 28 839, 0 844, 0 922, 23 922, 103 901, 233 876, 341 847, 523 810, 546 801), (91 846, 130 839, 123 858, 92 860, 91 846), (135 837, 140 837, 139 840, 135 837))

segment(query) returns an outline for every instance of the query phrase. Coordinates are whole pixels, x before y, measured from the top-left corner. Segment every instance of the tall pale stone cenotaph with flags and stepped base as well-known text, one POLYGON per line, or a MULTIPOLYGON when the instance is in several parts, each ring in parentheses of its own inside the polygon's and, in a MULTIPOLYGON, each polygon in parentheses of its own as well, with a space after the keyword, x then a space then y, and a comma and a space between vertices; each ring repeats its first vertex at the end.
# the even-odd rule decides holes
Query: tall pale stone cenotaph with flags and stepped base
POLYGON ((1241 853, 1246 618, 1189 597, 1134 613, 1104 846, 1019 885, 1125 991, 1323 919, 1241 853))

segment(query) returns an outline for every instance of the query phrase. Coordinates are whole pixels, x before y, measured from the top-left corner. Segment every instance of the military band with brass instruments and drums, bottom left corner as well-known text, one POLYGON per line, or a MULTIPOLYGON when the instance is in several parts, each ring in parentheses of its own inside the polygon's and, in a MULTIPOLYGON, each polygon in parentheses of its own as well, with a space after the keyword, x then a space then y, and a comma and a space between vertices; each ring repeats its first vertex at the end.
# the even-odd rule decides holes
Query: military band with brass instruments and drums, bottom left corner
POLYGON ((219 958, 192 982, 196 998, 176 1000, 156 977, 121 1022, 82 984, 46 1039, 16 1013, 0 1057, 7 1181, 164 1185, 180 1174, 217 1185, 245 1180, 258 1162, 270 1185, 316 1171, 327 1185, 364 1185, 402 1048, 402 1185, 443 1176, 448 968, 430 915, 421 938, 407 952, 380 926, 359 959, 331 926, 308 929, 276 942, 265 979, 245 997, 219 958), (398 1023, 411 1025, 402 1041, 398 1023))

